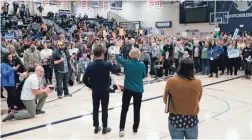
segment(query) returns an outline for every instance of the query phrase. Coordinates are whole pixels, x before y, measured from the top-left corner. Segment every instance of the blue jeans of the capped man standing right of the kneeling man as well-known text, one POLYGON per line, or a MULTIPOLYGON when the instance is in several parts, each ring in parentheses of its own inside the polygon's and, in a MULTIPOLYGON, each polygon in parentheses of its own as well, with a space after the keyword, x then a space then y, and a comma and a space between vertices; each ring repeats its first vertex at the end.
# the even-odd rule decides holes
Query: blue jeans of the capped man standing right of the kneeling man
POLYGON ((55 77, 56 77, 56 82, 57 82, 57 95, 61 96, 64 90, 64 95, 68 95, 68 72, 67 73, 60 73, 60 72, 55 72, 55 77), (63 85, 63 88, 62 88, 63 85))

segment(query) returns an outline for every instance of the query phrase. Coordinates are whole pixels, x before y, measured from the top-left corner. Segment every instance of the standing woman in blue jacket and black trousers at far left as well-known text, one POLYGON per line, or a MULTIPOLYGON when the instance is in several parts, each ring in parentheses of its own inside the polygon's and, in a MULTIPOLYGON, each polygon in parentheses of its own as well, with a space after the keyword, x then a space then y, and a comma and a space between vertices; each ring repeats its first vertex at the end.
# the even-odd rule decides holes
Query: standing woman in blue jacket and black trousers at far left
POLYGON ((8 112, 14 111, 14 106, 16 104, 15 70, 17 70, 18 67, 13 67, 12 57, 10 53, 6 54, 1 63, 1 86, 6 89, 8 94, 8 112))

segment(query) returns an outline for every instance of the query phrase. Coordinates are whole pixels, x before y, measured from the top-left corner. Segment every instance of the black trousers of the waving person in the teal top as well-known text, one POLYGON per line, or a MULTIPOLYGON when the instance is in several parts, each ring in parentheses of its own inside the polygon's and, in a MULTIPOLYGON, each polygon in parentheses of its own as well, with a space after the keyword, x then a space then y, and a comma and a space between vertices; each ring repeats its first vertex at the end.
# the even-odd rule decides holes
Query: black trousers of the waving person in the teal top
POLYGON ((122 97, 122 110, 121 110, 121 119, 120 119, 120 130, 124 130, 125 122, 127 117, 127 112, 130 105, 131 97, 133 97, 134 105, 134 124, 133 129, 137 130, 140 122, 140 109, 142 103, 142 93, 134 92, 128 89, 124 89, 122 97))

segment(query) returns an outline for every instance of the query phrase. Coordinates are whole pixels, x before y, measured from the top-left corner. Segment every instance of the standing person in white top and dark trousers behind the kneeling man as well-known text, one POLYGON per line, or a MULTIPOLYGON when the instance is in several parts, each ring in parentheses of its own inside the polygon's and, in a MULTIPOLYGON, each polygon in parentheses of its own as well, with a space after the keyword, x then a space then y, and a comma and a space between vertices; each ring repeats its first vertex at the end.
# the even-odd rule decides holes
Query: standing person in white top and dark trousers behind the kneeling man
POLYGON ((44 49, 41 50, 40 56, 45 70, 45 80, 47 84, 52 84, 52 68, 50 67, 52 52, 52 49, 48 48, 47 43, 44 43, 44 49))

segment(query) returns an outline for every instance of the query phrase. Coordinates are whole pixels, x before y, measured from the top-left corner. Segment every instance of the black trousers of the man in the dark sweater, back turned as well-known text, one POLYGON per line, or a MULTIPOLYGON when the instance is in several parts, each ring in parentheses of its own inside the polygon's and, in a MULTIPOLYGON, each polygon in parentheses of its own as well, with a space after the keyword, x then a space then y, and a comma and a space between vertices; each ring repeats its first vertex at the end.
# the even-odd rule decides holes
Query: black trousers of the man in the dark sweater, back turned
POLYGON ((93 126, 99 126, 99 107, 102 106, 102 127, 108 126, 109 91, 93 92, 93 126))

